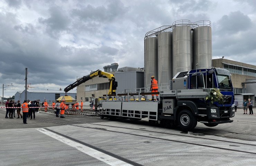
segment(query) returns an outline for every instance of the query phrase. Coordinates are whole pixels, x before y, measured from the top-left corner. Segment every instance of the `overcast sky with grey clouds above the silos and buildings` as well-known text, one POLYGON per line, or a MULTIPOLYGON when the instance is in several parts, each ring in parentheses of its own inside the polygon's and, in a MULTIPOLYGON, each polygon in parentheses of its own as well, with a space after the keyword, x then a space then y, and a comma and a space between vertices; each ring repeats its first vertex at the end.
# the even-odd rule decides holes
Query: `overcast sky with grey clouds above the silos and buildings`
POLYGON ((212 22, 213 59, 256 65, 256 0, 0 0, 4 97, 24 90, 26 67, 42 90, 114 62, 144 67, 145 33, 181 19, 212 22))

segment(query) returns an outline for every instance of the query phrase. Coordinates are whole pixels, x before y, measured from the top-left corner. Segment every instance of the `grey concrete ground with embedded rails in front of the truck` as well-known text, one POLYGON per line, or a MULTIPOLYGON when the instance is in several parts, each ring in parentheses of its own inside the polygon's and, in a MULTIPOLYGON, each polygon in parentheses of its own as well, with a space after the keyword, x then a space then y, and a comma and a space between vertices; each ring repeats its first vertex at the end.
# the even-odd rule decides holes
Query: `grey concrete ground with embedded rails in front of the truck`
POLYGON ((110 121, 86 116, 62 119, 47 113, 36 113, 36 120, 27 119, 28 124, 23 124, 22 119, 5 119, 5 109, 0 109, 0 166, 122 165, 104 160, 100 153, 102 157, 97 157, 90 149, 83 152, 82 144, 130 160, 131 165, 256 165, 256 115, 243 115, 242 109, 235 114, 233 123, 216 127, 198 123, 192 131, 182 132, 179 127, 149 126, 144 119, 110 121), (41 132, 42 128, 56 131, 57 138, 49 136, 53 132, 49 131, 49 135, 41 132), (61 135, 80 144, 71 145, 61 135))

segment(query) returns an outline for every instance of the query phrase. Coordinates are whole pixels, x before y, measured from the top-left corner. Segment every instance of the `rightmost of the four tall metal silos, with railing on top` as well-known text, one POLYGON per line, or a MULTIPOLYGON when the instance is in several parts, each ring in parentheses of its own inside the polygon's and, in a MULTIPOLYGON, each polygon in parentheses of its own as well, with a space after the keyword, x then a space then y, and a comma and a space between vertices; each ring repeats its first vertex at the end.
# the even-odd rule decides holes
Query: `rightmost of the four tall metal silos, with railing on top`
POLYGON ((194 23, 193 31, 193 69, 212 67, 212 31, 211 21, 194 23))

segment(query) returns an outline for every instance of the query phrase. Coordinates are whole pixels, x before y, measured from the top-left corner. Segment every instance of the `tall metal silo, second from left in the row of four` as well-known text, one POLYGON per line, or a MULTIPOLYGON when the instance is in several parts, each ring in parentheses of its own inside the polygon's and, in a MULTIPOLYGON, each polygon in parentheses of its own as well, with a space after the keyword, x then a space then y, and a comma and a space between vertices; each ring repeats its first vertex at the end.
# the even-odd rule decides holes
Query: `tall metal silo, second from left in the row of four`
POLYGON ((172 32, 158 34, 158 86, 170 85, 172 69, 172 32))

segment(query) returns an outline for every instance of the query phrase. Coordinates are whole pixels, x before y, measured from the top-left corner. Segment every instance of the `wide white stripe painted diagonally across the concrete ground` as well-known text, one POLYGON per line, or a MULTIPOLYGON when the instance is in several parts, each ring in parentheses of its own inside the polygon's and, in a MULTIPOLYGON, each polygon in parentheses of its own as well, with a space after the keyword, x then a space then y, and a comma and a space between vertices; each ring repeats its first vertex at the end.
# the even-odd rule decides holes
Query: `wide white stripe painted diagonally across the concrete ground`
POLYGON ((95 150, 95 149, 92 149, 88 146, 77 143, 77 142, 75 142, 71 139, 65 138, 61 135, 55 134, 55 133, 53 133, 51 131, 48 131, 46 129, 42 128, 42 129, 37 129, 37 130, 46 134, 46 135, 48 135, 48 136, 50 136, 50 137, 52 137, 52 138, 54 138, 54 139, 57 139, 57 140, 61 141, 64 144, 67 144, 71 147, 74 147, 77 150, 80 150, 81 152, 83 152, 83 153, 85 153, 89 156, 97 158, 98 160, 101 160, 102 162, 107 163, 111 166, 132 166, 132 165, 130 165, 126 162, 123 162, 123 161, 121 161, 121 160, 119 160, 115 157, 112 157, 112 156, 109 156, 109 155, 104 154, 102 152, 99 152, 98 150, 95 150))

